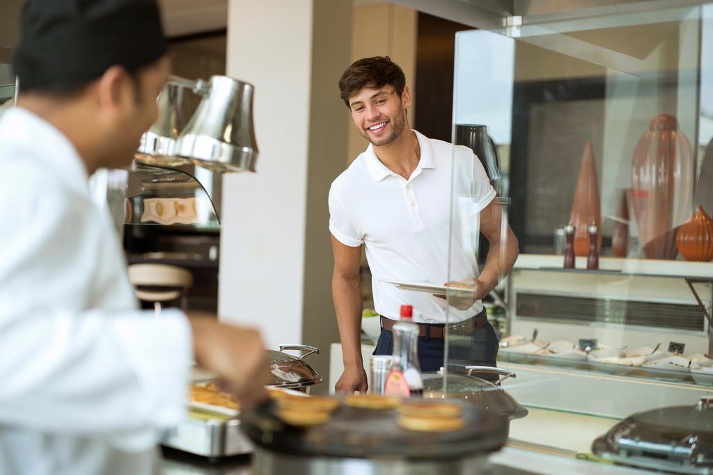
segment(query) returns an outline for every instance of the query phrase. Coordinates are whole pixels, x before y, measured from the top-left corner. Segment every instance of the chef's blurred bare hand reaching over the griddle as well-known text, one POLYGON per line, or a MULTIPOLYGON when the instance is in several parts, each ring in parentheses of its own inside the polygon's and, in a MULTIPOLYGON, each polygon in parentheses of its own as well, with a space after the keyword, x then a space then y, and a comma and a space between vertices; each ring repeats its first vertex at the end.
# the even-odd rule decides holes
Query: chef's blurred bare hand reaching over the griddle
POLYGON ((243 406, 267 397, 267 358, 260 333, 253 328, 218 322, 215 318, 190 315, 195 360, 217 373, 228 392, 243 406))

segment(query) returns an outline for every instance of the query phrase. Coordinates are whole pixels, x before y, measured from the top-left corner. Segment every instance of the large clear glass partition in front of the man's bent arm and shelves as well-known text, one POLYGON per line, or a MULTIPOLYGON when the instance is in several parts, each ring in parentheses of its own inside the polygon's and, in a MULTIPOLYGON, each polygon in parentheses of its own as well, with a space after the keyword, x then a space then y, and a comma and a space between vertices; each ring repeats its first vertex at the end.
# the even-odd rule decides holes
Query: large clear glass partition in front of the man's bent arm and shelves
MULTIPOLYGON (((483 302, 517 375, 502 387, 530 411, 513 439, 589 452, 630 414, 713 392, 713 223, 687 224, 713 187, 713 5, 651 3, 456 34, 453 142, 491 171, 490 140, 462 133, 488 127, 500 198, 483 207, 478 162, 456 151, 448 278, 497 275, 481 231, 509 222, 520 256, 483 302)), ((446 391, 494 350, 487 325, 462 324, 481 309, 464 295, 448 299, 446 391)))

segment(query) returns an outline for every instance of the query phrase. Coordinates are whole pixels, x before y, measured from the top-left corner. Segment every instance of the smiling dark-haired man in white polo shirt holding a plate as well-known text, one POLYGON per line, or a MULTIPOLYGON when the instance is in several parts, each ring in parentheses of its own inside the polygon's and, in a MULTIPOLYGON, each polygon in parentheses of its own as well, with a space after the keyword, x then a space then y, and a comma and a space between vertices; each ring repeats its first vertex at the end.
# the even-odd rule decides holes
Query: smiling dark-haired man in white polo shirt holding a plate
POLYGON ((507 224, 502 232, 502 209, 493 200, 496 192, 483 166, 467 147, 411 130, 406 117, 411 106, 406 78, 388 57, 356 61, 344 71, 339 89, 356 129, 371 143, 329 190, 332 296, 344 358, 337 392, 363 393, 367 389, 360 346, 362 244, 373 278, 374 306, 381 315, 375 355, 391 354, 391 327, 399 319, 401 305, 406 304, 414 307, 414 321, 419 323, 421 370, 436 371, 443 365, 446 313, 451 334, 458 338, 449 356, 495 365, 498 338, 481 298, 511 270, 518 256, 518 241, 507 224), (453 173, 454 166, 463 169, 453 173), (468 246, 454 246, 453 254, 448 255, 453 177, 468 181, 468 216, 479 221, 480 232, 490 244, 480 273, 468 246), (451 276, 473 291, 457 301, 451 299, 448 311, 442 296, 403 291, 381 281, 444 283, 449 261, 451 276))

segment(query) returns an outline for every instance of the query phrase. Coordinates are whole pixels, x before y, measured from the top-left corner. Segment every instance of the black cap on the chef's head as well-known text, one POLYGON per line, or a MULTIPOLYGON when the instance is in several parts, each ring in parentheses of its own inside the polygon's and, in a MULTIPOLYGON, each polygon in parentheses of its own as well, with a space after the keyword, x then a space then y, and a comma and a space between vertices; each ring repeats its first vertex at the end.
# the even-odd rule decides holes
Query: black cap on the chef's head
POLYGON ((29 0, 13 57, 21 92, 67 92, 166 52, 155 0, 29 0))

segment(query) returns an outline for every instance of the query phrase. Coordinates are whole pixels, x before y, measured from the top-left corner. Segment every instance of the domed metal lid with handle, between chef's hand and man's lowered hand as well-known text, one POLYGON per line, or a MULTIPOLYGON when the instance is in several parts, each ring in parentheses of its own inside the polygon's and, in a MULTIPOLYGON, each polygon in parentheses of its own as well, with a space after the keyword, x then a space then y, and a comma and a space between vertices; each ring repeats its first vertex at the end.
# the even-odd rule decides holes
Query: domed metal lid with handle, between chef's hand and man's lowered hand
POLYGON ((294 389, 322 382, 322 377, 319 377, 312 366, 303 360, 304 357, 312 355, 312 353, 319 355, 319 349, 307 345, 279 345, 279 351, 267 350, 267 364, 270 367, 270 380, 267 385, 294 389), (299 350, 308 353, 297 357, 282 353, 284 350, 299 350))

